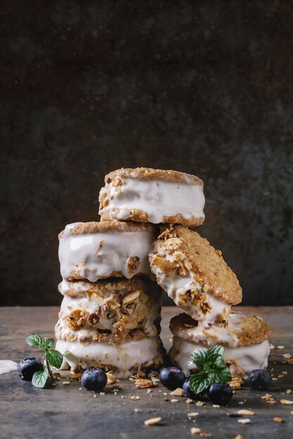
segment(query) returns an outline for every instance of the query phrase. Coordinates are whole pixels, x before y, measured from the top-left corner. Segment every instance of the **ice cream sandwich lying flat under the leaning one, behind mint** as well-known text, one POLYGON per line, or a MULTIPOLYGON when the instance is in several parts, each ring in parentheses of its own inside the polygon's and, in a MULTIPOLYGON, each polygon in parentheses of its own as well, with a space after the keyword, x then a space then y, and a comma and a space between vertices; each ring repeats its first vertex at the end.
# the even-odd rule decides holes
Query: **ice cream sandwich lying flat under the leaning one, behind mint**
POLYGON ((224 361, 233 377, 247 377, 254 369, 268 365, 270 327, 260 317, 232 313, 228 325, 202 327, 186 314, 171 319, 172 362, 188 377, 196 371, 191 353, 220 344, 225 346, 224 361))

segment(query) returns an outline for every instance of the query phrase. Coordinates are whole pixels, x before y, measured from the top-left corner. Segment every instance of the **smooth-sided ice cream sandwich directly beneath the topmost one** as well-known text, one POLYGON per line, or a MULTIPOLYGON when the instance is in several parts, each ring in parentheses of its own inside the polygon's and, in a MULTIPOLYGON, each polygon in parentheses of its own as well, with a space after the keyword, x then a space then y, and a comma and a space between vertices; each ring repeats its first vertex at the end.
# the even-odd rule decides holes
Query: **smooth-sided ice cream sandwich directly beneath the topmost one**
POLYGON ((150 275, 148 252, 156 238, 152 224, 79 222, 59 234, 63 279, 96 282, 110 276, 150 275))

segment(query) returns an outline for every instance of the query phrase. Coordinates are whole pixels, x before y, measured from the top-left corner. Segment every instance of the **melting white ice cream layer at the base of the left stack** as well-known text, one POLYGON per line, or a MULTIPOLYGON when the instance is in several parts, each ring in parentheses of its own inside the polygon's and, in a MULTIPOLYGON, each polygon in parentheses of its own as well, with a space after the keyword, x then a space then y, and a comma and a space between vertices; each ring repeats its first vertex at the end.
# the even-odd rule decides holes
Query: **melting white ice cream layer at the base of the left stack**
POLYGON ((120 344, 81 344, 58 340, 56 349, 61 353, 69 352, 61 369, 66 369, 67 364, 70 367, 78 365, 83 369, 110 365, 117 368, 115 375, 123 378, 129 377, 140 365, 151 366, 155 357, 162 362, 162 351, 157 337, 120 344))

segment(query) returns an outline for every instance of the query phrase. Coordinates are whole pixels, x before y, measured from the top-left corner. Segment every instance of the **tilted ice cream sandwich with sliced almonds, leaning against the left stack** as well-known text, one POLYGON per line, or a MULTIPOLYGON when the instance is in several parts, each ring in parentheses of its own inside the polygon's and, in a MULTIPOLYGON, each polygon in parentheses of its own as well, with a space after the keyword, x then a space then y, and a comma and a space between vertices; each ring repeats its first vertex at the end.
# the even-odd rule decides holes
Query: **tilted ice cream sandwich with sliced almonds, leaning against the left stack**
POLYGON ((152 245, 150 269, 176 305, 195 320, 214 325, 227 320, 241 302, 235 273, 207 239, 185 227, 169 227, 152 245))

